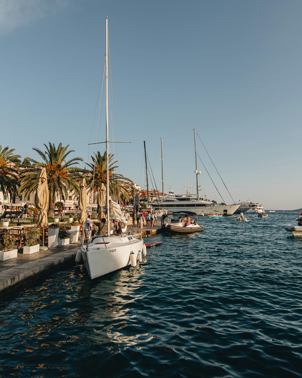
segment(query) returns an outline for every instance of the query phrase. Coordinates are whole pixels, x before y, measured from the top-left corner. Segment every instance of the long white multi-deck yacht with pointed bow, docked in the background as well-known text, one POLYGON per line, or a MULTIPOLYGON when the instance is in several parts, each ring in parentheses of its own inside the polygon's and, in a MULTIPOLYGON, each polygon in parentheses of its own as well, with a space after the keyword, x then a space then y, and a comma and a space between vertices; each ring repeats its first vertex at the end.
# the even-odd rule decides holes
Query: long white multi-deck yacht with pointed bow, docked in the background
POLYGON ((154 208, 162 208, 167 211, 167 214, 172 214, 176 211, 192 211, 197 215, 210 215, 210 214, 222 214, 233 215, 239 208, 239 204, 233 205, 219 205, 212 201, 197 200, 189 193, 186 195, 175 195, 172 191, 169 191, 165 198, 160 198, 157 202, 150 203, 154 208))

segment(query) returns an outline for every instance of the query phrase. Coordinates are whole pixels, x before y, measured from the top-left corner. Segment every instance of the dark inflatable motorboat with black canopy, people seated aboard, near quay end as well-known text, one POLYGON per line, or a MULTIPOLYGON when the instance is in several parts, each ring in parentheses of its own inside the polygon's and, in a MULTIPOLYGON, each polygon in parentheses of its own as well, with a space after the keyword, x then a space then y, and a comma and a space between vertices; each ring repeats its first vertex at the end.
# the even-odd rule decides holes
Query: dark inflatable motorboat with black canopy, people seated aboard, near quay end
POLYGON ((197 224, 197 214, 193 211, 175 211, 170 218, 170 222, 162 225, 162 231, 174 234, 192 234, 203 231, 203 227, 197 224), (195 217, 194 221, 190 217, 195 217), (184 222, 190 219, 190 222, 184 222), (189 224, 188 224, 189 223, 189 224))

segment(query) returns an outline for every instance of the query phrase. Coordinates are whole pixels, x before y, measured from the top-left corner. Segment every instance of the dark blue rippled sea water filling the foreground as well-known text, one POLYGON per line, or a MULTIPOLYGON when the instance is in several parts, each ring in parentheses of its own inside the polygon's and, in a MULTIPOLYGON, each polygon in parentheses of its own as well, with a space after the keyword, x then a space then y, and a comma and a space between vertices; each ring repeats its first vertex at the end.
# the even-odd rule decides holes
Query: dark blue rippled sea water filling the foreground
POLYGON ((301 377, 295 212, 200 217, 136 268, 56 273, 0 304, 0 377, 301 377))

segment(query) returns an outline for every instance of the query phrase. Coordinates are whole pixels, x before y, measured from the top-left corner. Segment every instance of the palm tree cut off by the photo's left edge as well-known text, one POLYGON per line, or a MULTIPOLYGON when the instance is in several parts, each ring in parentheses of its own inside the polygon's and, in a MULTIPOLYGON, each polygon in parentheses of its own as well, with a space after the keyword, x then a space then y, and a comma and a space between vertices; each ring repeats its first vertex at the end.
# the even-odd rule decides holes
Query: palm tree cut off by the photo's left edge
POLYGON ((0 190, 4 195, 9 194, 11 198, 16 191, 20 157, 20 155, 14 155, 14 149, 0 146, 0 190))

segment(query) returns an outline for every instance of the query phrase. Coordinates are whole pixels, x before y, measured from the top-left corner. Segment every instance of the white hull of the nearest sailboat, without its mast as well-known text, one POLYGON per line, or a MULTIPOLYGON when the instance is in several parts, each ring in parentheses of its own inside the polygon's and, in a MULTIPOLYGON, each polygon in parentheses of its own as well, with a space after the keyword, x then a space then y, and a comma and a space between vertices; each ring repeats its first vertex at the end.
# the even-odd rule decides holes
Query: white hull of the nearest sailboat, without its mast
POLYGON ((137 260, 143 251, 143 239, 132 236, 97 237, 94 242, 82 246, 85 267, 91 279, 126 268, 130 265, 130 254, 137 260), (105 242, 105 244, 104 244, 105 242))

